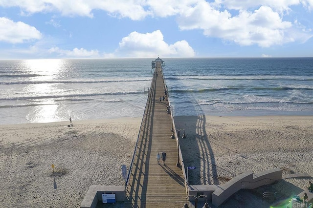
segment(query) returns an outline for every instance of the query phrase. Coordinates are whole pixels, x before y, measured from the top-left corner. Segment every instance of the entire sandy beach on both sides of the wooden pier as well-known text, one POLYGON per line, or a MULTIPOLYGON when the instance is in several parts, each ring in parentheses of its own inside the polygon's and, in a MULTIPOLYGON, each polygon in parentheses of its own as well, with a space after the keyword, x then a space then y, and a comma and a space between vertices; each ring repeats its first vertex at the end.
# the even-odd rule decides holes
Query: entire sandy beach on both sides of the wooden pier
MULTIPOLYGON (((91 185, 122 185, 141 118, 0 125, 0 207, 77 208, 91 185), (54 164, 54 177, 51 165, 54 164), (56 187, 55 187, 56 185, 56 187)), ((175 117, 193 185, 283 168, 313 176, 313 116, 175 117), (183 129, 183 130, 182 130, 183 129)), ((273 187, 291 195, 309 178, 273 187)), ((312 179, 311 179, 312 180, 312 179)))

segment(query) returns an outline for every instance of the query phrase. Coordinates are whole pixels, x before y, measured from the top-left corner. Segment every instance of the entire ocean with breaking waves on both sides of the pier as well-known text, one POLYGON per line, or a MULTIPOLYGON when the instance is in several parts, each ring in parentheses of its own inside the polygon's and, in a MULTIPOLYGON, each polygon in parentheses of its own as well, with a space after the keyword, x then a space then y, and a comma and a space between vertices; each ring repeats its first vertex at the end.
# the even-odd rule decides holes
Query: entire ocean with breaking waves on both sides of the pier
MULTIPOLYGON (((0 124, 142 117, 153 60, 0 61, 0 124)), ((163 60, 174 116, 313 115, 313 58, 163 60)))

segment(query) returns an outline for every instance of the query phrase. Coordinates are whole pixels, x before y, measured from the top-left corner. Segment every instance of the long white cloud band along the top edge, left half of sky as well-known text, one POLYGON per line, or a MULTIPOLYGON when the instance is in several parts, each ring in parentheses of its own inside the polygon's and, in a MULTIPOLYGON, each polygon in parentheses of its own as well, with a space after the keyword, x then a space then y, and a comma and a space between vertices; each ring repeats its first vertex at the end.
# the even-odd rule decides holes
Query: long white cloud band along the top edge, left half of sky
POLYGON ((104 10, 112 16, 141 20, 151 15, 143 0, 0 0, 2 7, 20 7, 22 14, 60 12, 62 16, 87 16, 92 10, 104 10))

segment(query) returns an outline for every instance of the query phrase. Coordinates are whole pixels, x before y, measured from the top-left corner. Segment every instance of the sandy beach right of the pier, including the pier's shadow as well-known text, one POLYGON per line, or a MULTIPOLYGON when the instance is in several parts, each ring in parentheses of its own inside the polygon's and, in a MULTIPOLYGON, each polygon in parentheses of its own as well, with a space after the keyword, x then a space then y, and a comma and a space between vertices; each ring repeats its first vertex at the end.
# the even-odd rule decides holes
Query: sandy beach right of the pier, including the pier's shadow
MULTIPOLYGON (((245 172, 282 168, 283 175, 313 176, 313 116, 176 117, 189 184, 218 185, 245 172), (180 130, 180 134, 183 130, 180 130)), ((273 185, 286 196, 298 194, 312 178, 291 178, 273 185)))

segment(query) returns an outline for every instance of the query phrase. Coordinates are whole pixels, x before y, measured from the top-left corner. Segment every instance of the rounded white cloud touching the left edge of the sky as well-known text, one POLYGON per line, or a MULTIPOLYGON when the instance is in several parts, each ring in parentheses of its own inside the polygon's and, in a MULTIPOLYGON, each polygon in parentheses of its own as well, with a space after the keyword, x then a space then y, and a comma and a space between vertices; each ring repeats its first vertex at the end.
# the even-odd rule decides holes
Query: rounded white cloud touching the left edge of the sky
POLYGON ((33 26, 0 18, 0 42, 23 43, 41 38, 42 34, 33 26))

